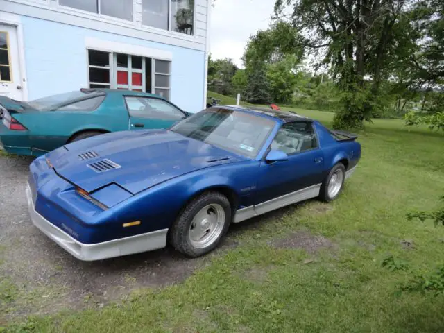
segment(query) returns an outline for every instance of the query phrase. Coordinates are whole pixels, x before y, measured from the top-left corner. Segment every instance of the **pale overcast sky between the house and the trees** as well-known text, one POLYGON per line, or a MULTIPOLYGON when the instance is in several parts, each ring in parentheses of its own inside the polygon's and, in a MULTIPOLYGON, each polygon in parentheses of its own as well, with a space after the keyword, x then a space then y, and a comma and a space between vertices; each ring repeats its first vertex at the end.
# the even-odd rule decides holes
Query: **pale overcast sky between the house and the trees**
POLYGON ((268 28, 275 0, 217 0, 210 21, 212 58, 232 58, 241 66, 248 37, 268 28))

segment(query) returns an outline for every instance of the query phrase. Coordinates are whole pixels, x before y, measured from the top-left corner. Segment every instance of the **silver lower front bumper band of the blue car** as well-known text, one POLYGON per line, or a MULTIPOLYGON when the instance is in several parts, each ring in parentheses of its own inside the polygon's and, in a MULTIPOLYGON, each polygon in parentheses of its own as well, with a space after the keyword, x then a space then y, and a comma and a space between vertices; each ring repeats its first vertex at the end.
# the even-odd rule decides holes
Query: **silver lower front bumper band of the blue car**
POLYGON ((83 261, 94 261, 142 253, 167 246, 168 229, 156 230, 146 234, 104 241, 98 244, 83 244, 77 241, 65 231, 53 225, 40 215, 34 206, 31 187, 26 187, 26 198, 28 200, 28 211, 33 224, 46 236, 55 241, 59 246, 67 250, 71 255, 83 261))

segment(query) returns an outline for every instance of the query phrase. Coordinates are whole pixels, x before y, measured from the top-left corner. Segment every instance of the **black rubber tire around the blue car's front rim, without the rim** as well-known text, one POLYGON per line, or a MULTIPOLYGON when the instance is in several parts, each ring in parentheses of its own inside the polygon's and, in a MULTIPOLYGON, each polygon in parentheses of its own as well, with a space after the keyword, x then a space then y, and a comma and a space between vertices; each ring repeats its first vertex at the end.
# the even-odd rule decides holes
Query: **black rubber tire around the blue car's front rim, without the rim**
POLYGON ((205 192, 194 198, 194 200, 180 212, 178 219, 176 219, 169 233, 170 244, 180 253, 188 257, 206 255, 214 250, 214 248, 220 244, 223 237, 225 237, 231 223, 231 215, 230 201, 228 201, 223 194, 216 191, 205 192), (220 205, 223 212, 225 212, 225 221, 223 221, 219 236, 205 248, 198 248, 191 243, 189 234, 191 231, 191 223, 193 222, 194 216, 208 205, 220 205))

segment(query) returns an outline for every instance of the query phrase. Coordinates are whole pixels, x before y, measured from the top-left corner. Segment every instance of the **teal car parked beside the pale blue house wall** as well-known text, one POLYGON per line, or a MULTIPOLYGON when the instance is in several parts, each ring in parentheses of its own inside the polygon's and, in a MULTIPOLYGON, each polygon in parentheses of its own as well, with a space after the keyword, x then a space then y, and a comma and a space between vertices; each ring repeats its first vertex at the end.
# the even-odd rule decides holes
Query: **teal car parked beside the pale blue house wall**
POLYGON ((103 133, 169 128, 188 115, 160 96, 118 89, 80 89, 30 102, 0 96, 0 146, 40 156, 103 133))

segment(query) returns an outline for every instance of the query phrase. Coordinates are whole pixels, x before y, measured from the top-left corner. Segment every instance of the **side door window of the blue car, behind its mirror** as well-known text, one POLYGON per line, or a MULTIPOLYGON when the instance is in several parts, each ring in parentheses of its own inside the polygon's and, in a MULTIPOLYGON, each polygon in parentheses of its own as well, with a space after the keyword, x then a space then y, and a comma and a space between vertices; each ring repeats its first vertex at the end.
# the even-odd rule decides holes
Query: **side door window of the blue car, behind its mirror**
POLYGON ((313 125, 309 122, 286 123, 275 136, 271 148, 293 155, 317 148, 313 125))

